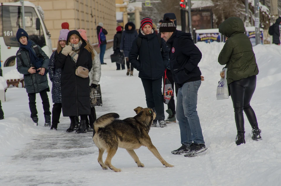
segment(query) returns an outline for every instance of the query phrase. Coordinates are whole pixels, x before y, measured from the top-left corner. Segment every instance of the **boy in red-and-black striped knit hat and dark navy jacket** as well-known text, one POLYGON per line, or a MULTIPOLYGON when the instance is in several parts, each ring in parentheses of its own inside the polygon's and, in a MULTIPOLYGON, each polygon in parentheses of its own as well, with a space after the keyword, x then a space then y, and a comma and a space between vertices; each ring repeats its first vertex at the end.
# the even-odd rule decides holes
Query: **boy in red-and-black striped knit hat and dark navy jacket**
POLYGON ((153 32, 152 20, 143 18, 138 37, 141 39, 138 48, 138 37, 133 40, 129 61, 137 71, 145 91, 147 107, 156 110, 156 119, 151 127, 156 127, 157 120, 160 127, 166 127, 164 102, 162 95, 162 77, 169 62, 169 50, 165 41, 153 32))

